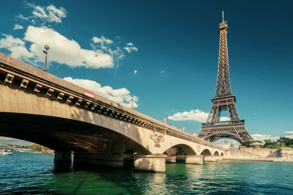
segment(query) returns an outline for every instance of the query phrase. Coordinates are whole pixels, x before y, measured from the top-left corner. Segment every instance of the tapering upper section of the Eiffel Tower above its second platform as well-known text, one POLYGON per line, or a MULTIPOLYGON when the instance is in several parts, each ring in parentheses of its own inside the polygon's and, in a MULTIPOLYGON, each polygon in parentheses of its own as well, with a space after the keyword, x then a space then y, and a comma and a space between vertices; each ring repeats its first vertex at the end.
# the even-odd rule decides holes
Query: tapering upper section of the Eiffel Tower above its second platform
POLYGON ((222 22, 219 24, 220 46, 215 98, 232 95, 229 73, 227 32, 228 24, 227 21, 224 20, 224 11, 222 11, 222 22))

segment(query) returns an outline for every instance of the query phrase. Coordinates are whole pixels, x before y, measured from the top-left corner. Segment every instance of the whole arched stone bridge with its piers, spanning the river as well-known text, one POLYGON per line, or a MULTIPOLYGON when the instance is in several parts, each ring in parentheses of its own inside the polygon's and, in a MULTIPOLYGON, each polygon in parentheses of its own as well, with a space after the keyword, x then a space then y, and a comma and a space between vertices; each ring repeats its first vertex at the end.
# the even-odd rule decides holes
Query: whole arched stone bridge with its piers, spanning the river
POLYGON ((221 160, 224 149, 0 53, 0 136, 55 150, 55 160, 165 171, 221 160), (176 159, 177 158, 177 159, 176 159))

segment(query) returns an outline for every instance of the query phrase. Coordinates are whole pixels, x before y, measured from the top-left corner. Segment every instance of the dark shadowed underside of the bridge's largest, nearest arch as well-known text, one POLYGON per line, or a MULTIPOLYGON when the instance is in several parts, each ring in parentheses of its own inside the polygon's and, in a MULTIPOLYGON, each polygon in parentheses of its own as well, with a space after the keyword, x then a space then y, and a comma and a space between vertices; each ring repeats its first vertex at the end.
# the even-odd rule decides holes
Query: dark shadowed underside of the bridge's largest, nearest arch
POLYGON ((0 113, 0 136, 41 144, 55 151, 151 154, 137 142, 101 126, 61 117, 0 113))

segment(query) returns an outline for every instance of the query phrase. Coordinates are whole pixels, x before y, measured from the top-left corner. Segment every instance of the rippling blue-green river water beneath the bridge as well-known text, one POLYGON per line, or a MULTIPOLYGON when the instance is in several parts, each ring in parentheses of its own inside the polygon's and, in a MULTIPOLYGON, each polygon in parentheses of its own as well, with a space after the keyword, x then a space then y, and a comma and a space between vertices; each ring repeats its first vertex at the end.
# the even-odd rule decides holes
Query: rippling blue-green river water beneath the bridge
POLYGON ((166 164, 166 173, 93 170, 52 154, 0 156, 0 195, 293 195, 293 163, 217 161, 166 164))

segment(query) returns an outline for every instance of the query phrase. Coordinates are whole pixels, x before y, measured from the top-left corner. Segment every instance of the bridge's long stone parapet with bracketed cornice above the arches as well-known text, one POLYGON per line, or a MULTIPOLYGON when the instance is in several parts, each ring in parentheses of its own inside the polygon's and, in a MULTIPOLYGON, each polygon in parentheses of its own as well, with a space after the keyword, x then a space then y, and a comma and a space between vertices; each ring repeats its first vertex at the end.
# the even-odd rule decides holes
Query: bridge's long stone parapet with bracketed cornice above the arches
MULTIPOLYGON (((133 123, 155 132, 223 150, 223 148, 208 141, 188 135, 170 125, 143 115, 98 94, 93 94, 93 97, 86 96, 86 90, 84 88, 2 53, 0 53, 0 82, 32 94, 133 123)), ((12 111, 4 110, 4 112, 12 111)))

